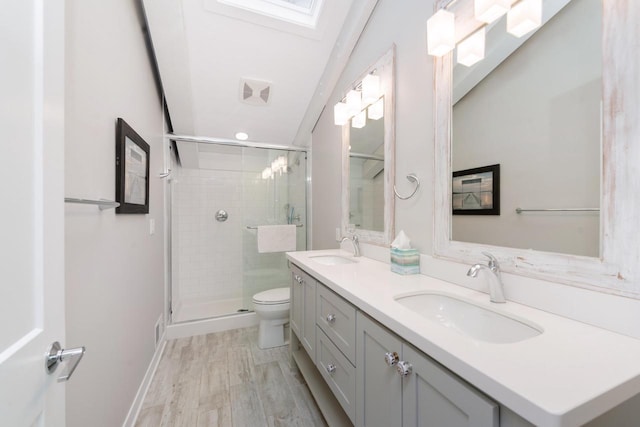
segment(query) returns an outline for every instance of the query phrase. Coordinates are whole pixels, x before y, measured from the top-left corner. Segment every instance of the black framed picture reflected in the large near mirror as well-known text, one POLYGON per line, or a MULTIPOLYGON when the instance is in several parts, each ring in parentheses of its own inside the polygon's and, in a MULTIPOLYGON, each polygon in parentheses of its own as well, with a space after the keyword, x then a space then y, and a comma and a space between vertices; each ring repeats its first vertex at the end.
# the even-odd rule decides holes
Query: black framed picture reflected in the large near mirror
POLYGON ((453 173, 454 215, 500 215, 500 165, 453 173))

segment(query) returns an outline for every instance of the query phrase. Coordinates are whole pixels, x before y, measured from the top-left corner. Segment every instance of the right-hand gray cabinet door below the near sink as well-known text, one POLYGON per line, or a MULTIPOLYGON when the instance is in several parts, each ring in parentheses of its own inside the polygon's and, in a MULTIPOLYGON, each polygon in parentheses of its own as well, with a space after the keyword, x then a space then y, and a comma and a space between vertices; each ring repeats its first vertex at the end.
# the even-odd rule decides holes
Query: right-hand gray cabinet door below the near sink
POLYGON ((498 427, 498 405, 410 345, 403 357, 402 426, 498 427))

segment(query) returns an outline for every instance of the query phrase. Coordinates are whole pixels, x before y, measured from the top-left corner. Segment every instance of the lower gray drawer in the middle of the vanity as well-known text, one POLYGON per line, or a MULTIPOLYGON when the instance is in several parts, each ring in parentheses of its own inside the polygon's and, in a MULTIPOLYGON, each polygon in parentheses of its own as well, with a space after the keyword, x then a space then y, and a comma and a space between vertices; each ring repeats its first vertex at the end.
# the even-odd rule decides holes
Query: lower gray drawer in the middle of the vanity
POLYGON ((316 331, 316 366, 352 423, 356 414, 356 368, 320 328, 316 331))

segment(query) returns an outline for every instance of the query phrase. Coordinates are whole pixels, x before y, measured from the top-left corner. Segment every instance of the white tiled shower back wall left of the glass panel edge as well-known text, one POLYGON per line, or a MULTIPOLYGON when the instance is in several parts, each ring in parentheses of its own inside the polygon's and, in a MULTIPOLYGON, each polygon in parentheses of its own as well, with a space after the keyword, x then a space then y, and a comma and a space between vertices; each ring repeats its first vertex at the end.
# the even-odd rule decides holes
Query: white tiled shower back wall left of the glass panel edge
POLYGON ((242 172, 179 168, 172 184, 173 300, 242 297, 242 172))

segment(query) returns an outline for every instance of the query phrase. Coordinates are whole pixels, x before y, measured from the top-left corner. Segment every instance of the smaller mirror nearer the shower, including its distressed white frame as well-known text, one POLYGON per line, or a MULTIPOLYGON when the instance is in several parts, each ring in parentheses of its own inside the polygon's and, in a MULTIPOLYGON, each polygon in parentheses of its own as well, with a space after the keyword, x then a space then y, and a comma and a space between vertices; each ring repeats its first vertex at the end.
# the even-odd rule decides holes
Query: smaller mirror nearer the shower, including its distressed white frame
POLYGON ((342 235, 376 245, 389 245, 394 234, 394 57, 392 47, 345 91, 362 90, 367 76, 379 82, 362 122, 354 117, 342 126, 342 235))

